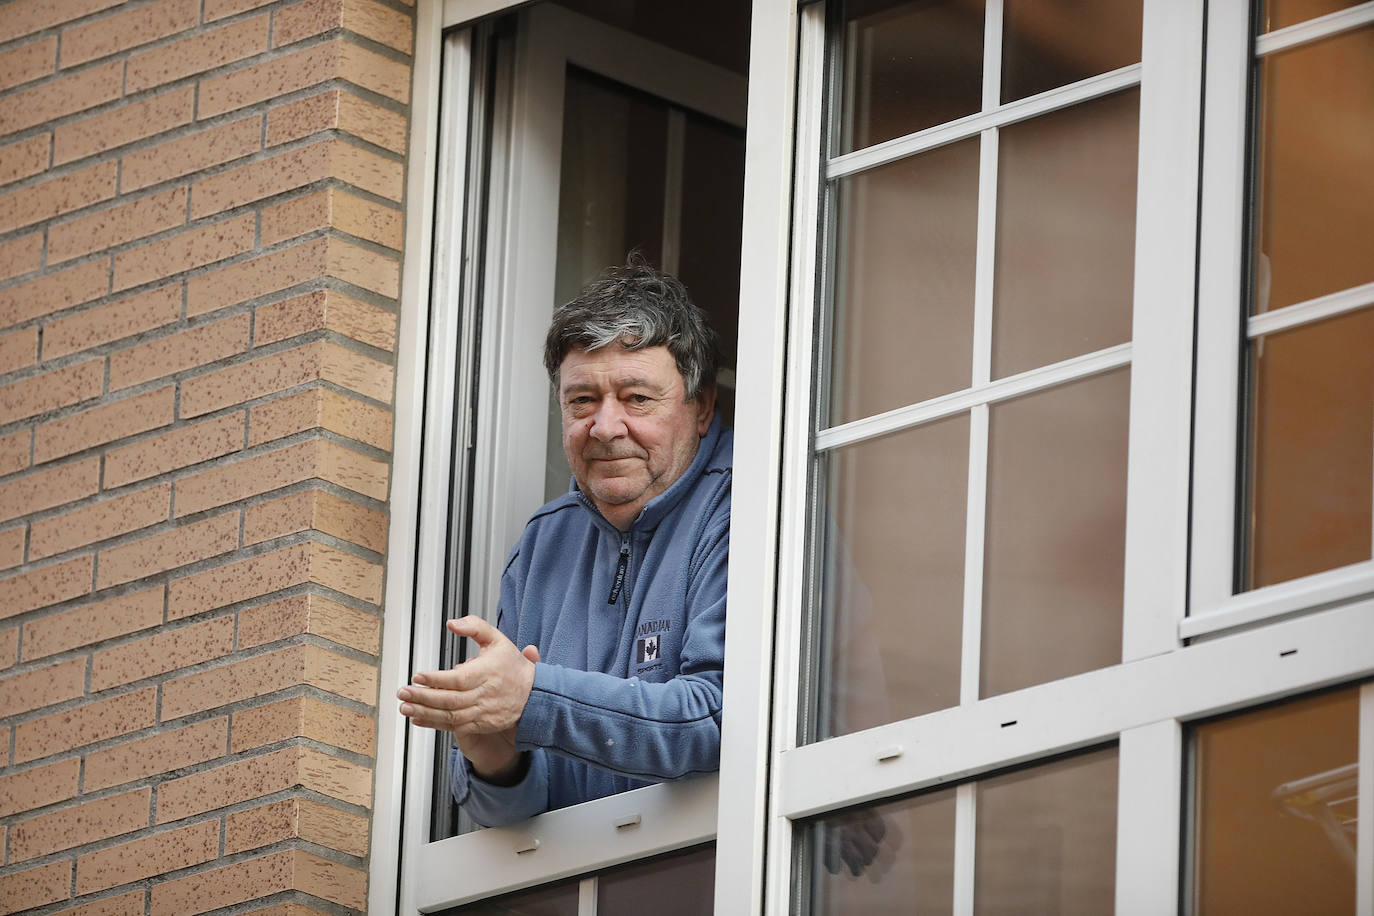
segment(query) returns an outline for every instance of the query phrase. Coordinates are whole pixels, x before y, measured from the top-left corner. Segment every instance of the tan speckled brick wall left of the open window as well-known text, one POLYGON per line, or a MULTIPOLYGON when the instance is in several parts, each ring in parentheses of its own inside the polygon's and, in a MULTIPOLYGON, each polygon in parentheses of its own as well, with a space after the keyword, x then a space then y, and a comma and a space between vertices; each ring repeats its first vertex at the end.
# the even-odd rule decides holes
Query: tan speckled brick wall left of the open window
POLYGON ((0 1, 0 915, 365 908, 412 21, 0 1))

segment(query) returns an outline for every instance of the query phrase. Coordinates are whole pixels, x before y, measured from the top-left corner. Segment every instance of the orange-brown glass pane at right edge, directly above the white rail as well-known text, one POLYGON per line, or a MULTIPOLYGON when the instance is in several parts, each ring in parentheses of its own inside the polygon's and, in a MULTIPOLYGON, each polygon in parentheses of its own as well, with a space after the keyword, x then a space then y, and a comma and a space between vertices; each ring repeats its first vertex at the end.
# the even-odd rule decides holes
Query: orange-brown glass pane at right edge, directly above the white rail
POLYGON ((1374 555, 1370 354, 1374 309, 1250 345, 1248 588, 1374 555))

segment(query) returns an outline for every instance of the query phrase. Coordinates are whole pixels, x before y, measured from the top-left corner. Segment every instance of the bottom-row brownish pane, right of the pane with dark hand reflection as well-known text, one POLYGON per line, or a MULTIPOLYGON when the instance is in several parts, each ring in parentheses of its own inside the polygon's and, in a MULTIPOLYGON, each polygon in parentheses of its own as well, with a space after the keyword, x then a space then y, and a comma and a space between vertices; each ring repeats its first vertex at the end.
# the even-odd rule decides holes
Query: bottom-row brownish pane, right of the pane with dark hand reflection
POLYGON ((1110 913, 1116 809, 1114 747, 980 781, 973 912, 1110 913))

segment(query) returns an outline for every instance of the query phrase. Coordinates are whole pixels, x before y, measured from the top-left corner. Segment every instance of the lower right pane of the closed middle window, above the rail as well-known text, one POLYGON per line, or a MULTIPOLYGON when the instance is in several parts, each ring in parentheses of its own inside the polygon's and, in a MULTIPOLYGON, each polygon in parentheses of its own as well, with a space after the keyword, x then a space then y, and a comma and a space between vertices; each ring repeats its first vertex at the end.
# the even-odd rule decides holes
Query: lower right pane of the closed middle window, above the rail
POLYGON ((991 408, 981 696, 1121 661, 1129 400, 1121 368, 991 408))

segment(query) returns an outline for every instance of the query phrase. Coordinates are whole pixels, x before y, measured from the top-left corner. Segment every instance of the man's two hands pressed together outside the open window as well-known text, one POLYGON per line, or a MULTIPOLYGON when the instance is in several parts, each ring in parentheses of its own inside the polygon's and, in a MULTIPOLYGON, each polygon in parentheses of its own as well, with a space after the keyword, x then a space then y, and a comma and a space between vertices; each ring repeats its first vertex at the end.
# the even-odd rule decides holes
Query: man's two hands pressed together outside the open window
POLYGON ((534 685, 539 650, 523 651, 478 617, 448 621, 458 636, 471 637, 477 658, 447 672, 418 672, 396 692, 401 715, 416 725, 451 732, 478 776, 502 777, 515 770, 515 726, 534 685))

